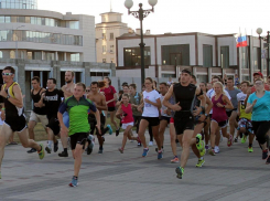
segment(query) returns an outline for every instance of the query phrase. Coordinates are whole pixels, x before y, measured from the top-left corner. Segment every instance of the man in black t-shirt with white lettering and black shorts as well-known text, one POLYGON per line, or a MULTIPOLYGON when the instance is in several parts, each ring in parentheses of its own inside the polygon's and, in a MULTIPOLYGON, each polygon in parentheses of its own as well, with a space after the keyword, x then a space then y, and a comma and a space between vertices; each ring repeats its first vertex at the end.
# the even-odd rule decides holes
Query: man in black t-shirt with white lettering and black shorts
POLYGON ((56 80, 47 80, 47 89, 42 93, 40 106, 45 106, 48 124, 46 125, 46 131, 48 135, 47 147, 45 150, 47 154, 52 152, 52 145, 54 142, 54 152, 58 150, 58 141, 55 136, 60 134, 60 121, 57 119, 58 107, 64 98, 63 91, 55 88, 56 80))

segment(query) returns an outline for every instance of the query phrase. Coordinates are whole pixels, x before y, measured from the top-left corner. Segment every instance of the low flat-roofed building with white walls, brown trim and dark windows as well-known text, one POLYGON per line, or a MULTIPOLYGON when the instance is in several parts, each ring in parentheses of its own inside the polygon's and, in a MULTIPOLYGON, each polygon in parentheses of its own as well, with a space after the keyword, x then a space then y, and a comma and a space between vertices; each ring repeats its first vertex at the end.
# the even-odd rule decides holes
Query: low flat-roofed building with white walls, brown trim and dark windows
MULTIPOLYGON (((175 77, 187 67, 201 81, 213 75, 251 80, 252 72, 266 72, 267 60, 261 57, 260 41, 248 36, 247 47, 236 47, 234 34, 165 33, 143 35, 145 74, 154 77, 175 77), (259 60, 261 59, 261 68, 259 60)), ((117 38, 117 76, 140 76, 140 35, 123 34, 117 38), (133 72, 133 73, 132 73, 133 72)), ((263 46, 263 43, 261 42, 263 46)))

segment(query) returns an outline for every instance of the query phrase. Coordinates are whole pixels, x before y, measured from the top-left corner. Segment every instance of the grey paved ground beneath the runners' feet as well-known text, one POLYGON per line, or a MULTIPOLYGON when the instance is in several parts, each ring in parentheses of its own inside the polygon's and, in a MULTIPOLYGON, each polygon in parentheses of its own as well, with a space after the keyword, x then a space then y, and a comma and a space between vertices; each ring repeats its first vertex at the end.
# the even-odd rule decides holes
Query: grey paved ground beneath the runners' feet
MULTIPOLYGON (((149 139, 148 134, 145 134, 149 139)), ((142 158, 137 142, 127 142, 123 154, 118 151, 122 134, 106 136, 104 154, 98 145, 90 156, 84 154, 77 188, 68 187, 74 160, 46 154, 26 154, 20 145, 7 146, 0 179, 0 201, 246 201, 269 200, 270 165, 261 160, 261 150, 253 142, 226 146, 220 154, 205 156, 203 168, 191 152, 183 179, 177 179, 170 163, 172 151, 169 130, 165 131, 163 159, 156 159, 155 146, 142 158)), ((96 139, 97 141, 97 139, 96 139)), ((45 145, 45 141, 43 141, 45 145)), ((62 151, 62 148, 60 148, 62 151)), ((177 147, 179 156, 181 147, 177 147)))

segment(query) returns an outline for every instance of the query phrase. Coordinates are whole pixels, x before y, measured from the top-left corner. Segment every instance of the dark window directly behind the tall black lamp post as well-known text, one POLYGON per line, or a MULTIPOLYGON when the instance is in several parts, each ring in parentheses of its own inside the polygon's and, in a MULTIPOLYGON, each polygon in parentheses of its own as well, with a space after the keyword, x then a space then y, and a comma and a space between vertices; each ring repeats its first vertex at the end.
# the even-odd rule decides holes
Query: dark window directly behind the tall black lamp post
MULTIPOLYGON (((150 46, 144 47, 144 64, 150 65, 151 55, 150 46)), ((125 66, 138 66, 141 65, 141 50, 140 47, 123 49, 123 65, 125 66)))

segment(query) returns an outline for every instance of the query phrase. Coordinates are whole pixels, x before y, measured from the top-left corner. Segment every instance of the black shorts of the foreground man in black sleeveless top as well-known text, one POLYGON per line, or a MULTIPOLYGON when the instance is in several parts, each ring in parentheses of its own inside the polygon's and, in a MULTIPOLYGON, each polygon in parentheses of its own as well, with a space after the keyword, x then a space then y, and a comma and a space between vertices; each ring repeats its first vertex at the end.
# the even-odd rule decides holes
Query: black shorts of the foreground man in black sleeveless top
POLYGON ((182 135, 185 130, 194 130, 194 117, 191 113, 175 113, 174 127, 176 135, 182 135))

